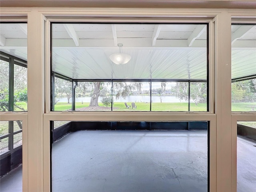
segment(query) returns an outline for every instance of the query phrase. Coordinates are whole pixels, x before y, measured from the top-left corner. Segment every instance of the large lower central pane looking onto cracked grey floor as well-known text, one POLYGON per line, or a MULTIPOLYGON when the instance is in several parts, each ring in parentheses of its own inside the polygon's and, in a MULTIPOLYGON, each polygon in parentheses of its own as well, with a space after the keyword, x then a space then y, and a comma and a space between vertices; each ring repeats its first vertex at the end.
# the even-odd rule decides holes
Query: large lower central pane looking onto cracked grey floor
POLYGON ((70 122, 52 134, 52 191, 206 192, 207 124, 70 122))

